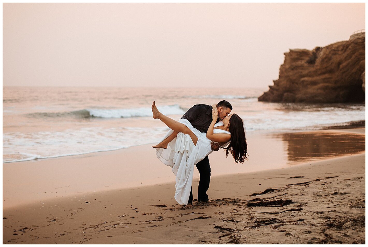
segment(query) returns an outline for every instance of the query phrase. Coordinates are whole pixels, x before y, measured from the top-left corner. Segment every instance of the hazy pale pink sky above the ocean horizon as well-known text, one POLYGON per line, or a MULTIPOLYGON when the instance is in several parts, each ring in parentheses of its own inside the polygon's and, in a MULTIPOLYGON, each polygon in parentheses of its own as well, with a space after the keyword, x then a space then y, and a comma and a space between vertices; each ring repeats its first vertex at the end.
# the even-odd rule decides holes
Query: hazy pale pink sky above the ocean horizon
POLYGON ((363 28, 364 3, 4 3, 3 85, 266 88, 363 28))

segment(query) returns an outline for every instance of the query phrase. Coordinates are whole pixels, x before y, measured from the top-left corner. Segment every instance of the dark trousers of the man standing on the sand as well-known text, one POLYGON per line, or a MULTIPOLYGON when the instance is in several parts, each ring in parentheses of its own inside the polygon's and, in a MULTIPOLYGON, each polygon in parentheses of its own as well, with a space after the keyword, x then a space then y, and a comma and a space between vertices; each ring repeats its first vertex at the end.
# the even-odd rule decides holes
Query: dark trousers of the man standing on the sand
MULTIPOLYGON (((209 188, 209 180, 211 178, 211 168, 209 167, 208 156, 199 161, 195 166, 197 166, 200 176, 198 185, 198 201, 206 202, 208 201, 208 195, 206 194, 206 192, 209 188)), ((193 193, 191 189, 188 204, 191 204, 192 201, 193 201, 193 193)))

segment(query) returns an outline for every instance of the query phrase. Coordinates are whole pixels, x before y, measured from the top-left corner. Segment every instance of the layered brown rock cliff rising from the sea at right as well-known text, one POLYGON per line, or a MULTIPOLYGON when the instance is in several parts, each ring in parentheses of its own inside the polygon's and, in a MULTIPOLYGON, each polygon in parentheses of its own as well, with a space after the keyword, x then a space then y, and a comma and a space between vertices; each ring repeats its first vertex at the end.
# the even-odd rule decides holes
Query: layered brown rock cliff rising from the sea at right
POLYGON ((364 102, 365 33, 313 50, 290 50, 284 55, 279 79, 259 101, 364 102))

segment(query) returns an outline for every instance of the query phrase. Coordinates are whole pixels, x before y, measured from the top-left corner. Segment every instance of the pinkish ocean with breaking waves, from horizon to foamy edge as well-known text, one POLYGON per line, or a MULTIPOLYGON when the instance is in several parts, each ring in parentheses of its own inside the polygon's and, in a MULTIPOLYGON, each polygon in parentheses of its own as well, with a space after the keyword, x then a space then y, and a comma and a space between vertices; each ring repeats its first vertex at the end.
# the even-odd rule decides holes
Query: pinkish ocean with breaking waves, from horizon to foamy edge
POLYGON ((227 100, 246 132, 287 132, 365 120, 365 104, 258 102, 267 88, 3 87, 3 163, 157 144, 195 104, 227 100))

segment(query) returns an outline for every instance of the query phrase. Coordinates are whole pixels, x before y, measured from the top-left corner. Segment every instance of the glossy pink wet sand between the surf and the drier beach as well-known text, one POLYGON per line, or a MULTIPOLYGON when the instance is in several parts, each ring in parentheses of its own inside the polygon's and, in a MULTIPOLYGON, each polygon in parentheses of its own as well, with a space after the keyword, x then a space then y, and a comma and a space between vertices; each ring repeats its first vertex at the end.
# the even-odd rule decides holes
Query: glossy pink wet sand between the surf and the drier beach
MULTIPOLYGON (((318 133, 321 131, 323 133, 363 134, 365 128, 298 131, 297 133, 318 133)), ((283 148, 283 141, 279 140, 280 138, 270 138, 270 135, 272 133, 266 131, 263 131, 263 133, 254 131, 247 134, 247 139, 251 140, 254 146, 254 149, 249 149, 248 153, 258 159, 248 160, 245 164, 233 164, 231 157, 226 159, 222 150, 213 152, 209 157, 212 168, 211 177, 282 169, 290 165, 302 165, 330 159, 330 157, 319 157, 317 160, 304 160, 290 164, 286 151, 283 150, 285 149, 285 147, 283 148), (267 145, 272 147, 273 151, 268 152, 268 157, 262 157, 264 156, 262 155, 262 148, 268 147, 267 145), (254 155, 253 151, 257 153, 254 155), (259 163, 269 164, 259 166, 259 163)), ((37 201, 44 203, 53 198, 96 191, 139 188, 174 182, 175 176, 170 167, 163 165, 156 158, 155 153, 150 152, 151 149, 150 145, 144 145, 78 156, 4 163, 3 177, 6 179, 3 179, 3 209, 37 201), (138 160, 140 162, 137 162, 138 160), (104 163, 105 165, 101 166, 104 163), (126 166, 126 164, 128 165, 126 166), (146 164, 149 164, 149 166, 146 164), (155 169, 152 170, 149 167, 155 169), (139 174, 137 174, 137 170, 140 171, 139 174), (129 176, 124 176, 124 174, 129 174, 129 176), (38 183, 35 183, 34 180, 38 183)), ((195 179, 199 179, 197 169, 194 172, 195 179)))

